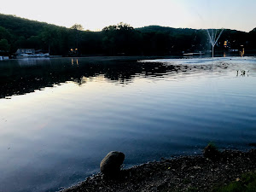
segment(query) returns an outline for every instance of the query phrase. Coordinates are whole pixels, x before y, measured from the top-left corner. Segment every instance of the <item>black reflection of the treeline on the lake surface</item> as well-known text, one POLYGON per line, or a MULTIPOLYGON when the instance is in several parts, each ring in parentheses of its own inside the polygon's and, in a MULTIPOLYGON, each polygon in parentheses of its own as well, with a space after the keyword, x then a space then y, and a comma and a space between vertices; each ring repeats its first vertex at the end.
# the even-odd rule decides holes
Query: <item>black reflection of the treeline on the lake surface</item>
MULTIPOLYGON (((223 63, 220 67, 226 68, 223 63)), ((0 97, 23 95, 55 84, 73 81, 85 84, 84 79, 102 76, 116 84, 129 84, 135 78, 180 78, 191 73, 211 71, 211 66, 170 65, 137 60, 27 59, 4 61, 0 65, 0 97)))

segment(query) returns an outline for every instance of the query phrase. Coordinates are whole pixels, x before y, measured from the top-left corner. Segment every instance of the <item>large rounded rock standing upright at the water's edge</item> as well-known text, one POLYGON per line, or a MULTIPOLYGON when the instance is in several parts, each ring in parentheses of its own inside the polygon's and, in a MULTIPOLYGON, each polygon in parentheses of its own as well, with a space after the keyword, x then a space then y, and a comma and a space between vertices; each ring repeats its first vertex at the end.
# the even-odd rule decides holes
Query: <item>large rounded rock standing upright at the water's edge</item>
POLYGON ((119 173, 124 160, 125 154, 118 151, 109 152, 101 162, 101 172, 109 176, 116 175, 116 173, 119 173))

